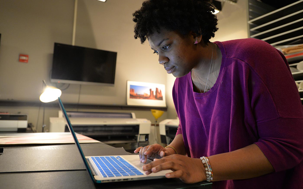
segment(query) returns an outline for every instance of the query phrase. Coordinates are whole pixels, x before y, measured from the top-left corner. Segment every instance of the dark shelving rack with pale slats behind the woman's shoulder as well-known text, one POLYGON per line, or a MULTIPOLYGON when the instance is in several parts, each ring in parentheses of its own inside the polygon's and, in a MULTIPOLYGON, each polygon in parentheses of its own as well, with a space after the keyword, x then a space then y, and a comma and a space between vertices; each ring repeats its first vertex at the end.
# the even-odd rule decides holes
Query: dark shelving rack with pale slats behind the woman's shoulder
MULTIPOLYGON (((248 36, 281 45, 303 44, 303 0, 274 8, 258 0, 248 0, 248 36)), ((303 51, 302 51, 303 52, 303 51)), ((295 67, 303 56, 287 59, 295 67)), ((303 82, 303 70, 292 73, 296 83, 303 82)), ((299 90, 303 103, 303 90, 299 90)))

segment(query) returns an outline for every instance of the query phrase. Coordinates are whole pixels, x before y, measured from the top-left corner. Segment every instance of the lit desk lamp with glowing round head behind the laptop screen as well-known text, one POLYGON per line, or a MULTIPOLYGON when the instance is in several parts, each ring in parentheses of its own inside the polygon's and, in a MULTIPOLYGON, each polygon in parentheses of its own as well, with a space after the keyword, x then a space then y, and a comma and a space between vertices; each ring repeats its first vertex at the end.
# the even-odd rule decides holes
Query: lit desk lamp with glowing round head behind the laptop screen
MULTIPOLYGON (((46 84, 46 81, 43 80, 43 86, 45 86, 45 89, 43 90, 43 93, 40 95, 40 101, 43 103, 49 103, 52 101, 55 101, 58 99, 58 97, 61 96, 62 92, 60 89, 57 89, 53 86, 48 86, 46 84)), ((43 106, 43 122, 42 122, 42 132, 44 132, 44 113, 45 113, 45 106, 43 106)))

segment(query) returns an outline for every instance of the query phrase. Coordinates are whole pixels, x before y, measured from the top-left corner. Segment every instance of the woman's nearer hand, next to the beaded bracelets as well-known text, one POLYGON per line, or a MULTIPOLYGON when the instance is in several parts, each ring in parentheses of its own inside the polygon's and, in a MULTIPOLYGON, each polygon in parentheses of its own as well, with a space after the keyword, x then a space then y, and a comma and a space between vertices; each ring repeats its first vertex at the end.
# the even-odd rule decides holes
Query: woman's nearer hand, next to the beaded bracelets
POLYGON ((173 172, 165 174, 166 178, 180 178, 184 183, 191 184, 206 180, 205 167, 200 159, 189 158, 184 155, 169 155, 142 167, 145 174, 162 170, 173 172))

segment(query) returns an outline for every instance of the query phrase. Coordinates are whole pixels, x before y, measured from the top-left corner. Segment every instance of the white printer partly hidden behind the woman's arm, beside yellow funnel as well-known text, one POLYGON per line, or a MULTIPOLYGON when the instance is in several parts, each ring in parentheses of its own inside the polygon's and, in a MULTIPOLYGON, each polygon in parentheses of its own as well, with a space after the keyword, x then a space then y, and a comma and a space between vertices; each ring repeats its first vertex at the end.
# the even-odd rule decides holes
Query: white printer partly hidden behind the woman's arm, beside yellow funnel
POLYGON ((159 123, 161 143, 169 145, 175 138, 179 126, 179 119, 165 119, 159 123))

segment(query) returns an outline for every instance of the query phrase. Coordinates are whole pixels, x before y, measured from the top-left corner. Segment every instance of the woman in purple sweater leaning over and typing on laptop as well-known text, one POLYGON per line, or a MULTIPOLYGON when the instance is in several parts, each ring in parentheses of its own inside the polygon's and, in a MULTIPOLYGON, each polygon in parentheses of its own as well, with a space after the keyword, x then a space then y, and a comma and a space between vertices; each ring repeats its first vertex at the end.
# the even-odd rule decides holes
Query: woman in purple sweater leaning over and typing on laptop
POLYGON ((208 0, 148 0, 133 14, 135 38, 176 77, 180 120, 168 147, 135 150, 154 159, 143 170, 213 188, 303 188, 303 107, 287 60, 261 40, 211 43, 213 12, 208 0))

